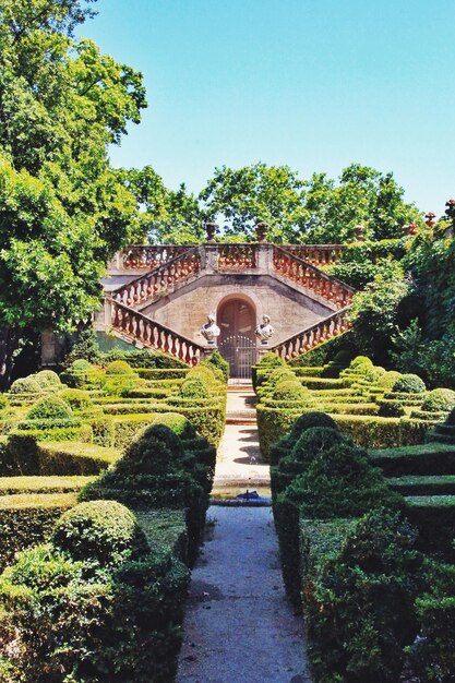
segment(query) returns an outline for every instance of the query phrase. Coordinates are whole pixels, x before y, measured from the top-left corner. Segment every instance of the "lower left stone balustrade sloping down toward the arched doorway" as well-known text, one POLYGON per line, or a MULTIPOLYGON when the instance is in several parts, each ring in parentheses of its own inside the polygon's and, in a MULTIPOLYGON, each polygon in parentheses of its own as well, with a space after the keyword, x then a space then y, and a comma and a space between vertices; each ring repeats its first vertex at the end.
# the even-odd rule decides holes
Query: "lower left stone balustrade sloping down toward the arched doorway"
POLYGON ((134 342, 170 354, 193 366, 204 356, 203 346, 115 300, 111 300, 111 325, 116 332, 134 342))

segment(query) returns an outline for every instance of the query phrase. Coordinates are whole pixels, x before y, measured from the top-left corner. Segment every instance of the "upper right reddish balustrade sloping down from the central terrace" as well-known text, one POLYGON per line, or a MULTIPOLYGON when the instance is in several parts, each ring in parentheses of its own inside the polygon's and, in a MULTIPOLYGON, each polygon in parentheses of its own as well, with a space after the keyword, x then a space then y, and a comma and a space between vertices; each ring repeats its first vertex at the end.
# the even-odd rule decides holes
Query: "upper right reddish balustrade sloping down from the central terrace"
POLYGON ((284 277, 306 289, 311 289, 339 309, 346 308, 351 301, 355 292, 352 287, 345 285, 336 277, 326 275, 282 247, 273 247, 273 266, 284 277))

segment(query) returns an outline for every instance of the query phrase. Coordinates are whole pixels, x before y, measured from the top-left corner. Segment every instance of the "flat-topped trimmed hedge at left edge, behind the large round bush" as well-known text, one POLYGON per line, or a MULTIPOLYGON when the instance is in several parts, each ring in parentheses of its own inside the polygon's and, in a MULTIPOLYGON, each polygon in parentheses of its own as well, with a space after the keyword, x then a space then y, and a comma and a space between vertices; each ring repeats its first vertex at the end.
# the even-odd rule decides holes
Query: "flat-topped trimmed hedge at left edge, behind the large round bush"
POLYGON ((50 538, 57 519, 75 504, 75 493, 0 495, 0 571, 19 551, 50 538))

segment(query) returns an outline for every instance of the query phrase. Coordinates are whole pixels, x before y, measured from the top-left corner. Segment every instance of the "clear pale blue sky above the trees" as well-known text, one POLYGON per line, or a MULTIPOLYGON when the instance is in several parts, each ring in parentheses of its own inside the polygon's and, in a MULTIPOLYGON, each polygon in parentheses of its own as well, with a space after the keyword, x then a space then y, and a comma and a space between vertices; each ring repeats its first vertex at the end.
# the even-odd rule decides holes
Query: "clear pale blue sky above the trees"
POLYGON ((453 0, 98 0, 81 35, 142 71, 111 158, 199 192, 215 166, 352 161, 438 215, 455 195, 453 0))

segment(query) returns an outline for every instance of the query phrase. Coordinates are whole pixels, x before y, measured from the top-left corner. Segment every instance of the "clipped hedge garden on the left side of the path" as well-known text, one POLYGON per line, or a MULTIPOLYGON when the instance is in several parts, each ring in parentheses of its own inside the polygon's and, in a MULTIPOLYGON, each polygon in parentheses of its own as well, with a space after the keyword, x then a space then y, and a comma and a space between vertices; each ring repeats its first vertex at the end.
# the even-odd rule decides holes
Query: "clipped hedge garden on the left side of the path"
POLYGON ((111 354, 1 396, 1 681, 173 680, 226 366, 111 354))

